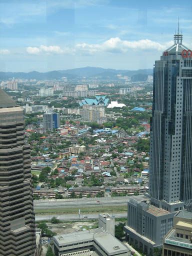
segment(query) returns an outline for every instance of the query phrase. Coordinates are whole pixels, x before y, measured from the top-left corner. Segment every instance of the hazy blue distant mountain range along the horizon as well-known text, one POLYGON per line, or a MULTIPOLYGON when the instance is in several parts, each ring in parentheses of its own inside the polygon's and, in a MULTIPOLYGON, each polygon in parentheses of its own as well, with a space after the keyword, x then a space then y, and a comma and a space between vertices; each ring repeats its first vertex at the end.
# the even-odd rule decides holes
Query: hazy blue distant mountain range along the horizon
POLYGON ((152 74, 152 72, 152 69, 121 70, 87 66, 66 70, 53 70, 48 72, 0 72, 0 80, 5 80, 12 77, 38 80, 61 79, 63 76, 67 77, 68 79, 89 77, 97 79, 119 80, 119 77, 122 78, 124 76, 129 76, 133 77, 133 81, 138 81, 139 79, 144 81, 146 80, 147 75, 152 74))

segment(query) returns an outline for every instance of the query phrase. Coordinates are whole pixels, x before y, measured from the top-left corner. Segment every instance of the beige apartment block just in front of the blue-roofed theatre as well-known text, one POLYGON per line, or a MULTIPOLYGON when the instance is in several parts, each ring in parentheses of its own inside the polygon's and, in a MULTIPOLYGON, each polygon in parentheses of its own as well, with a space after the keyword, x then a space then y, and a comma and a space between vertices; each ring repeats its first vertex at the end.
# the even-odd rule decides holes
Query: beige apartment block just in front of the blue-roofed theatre
POLYGON ((101 117, 104 117, 103 105, 83 105, 82 106, 83 120, 98 122, 101 117))

